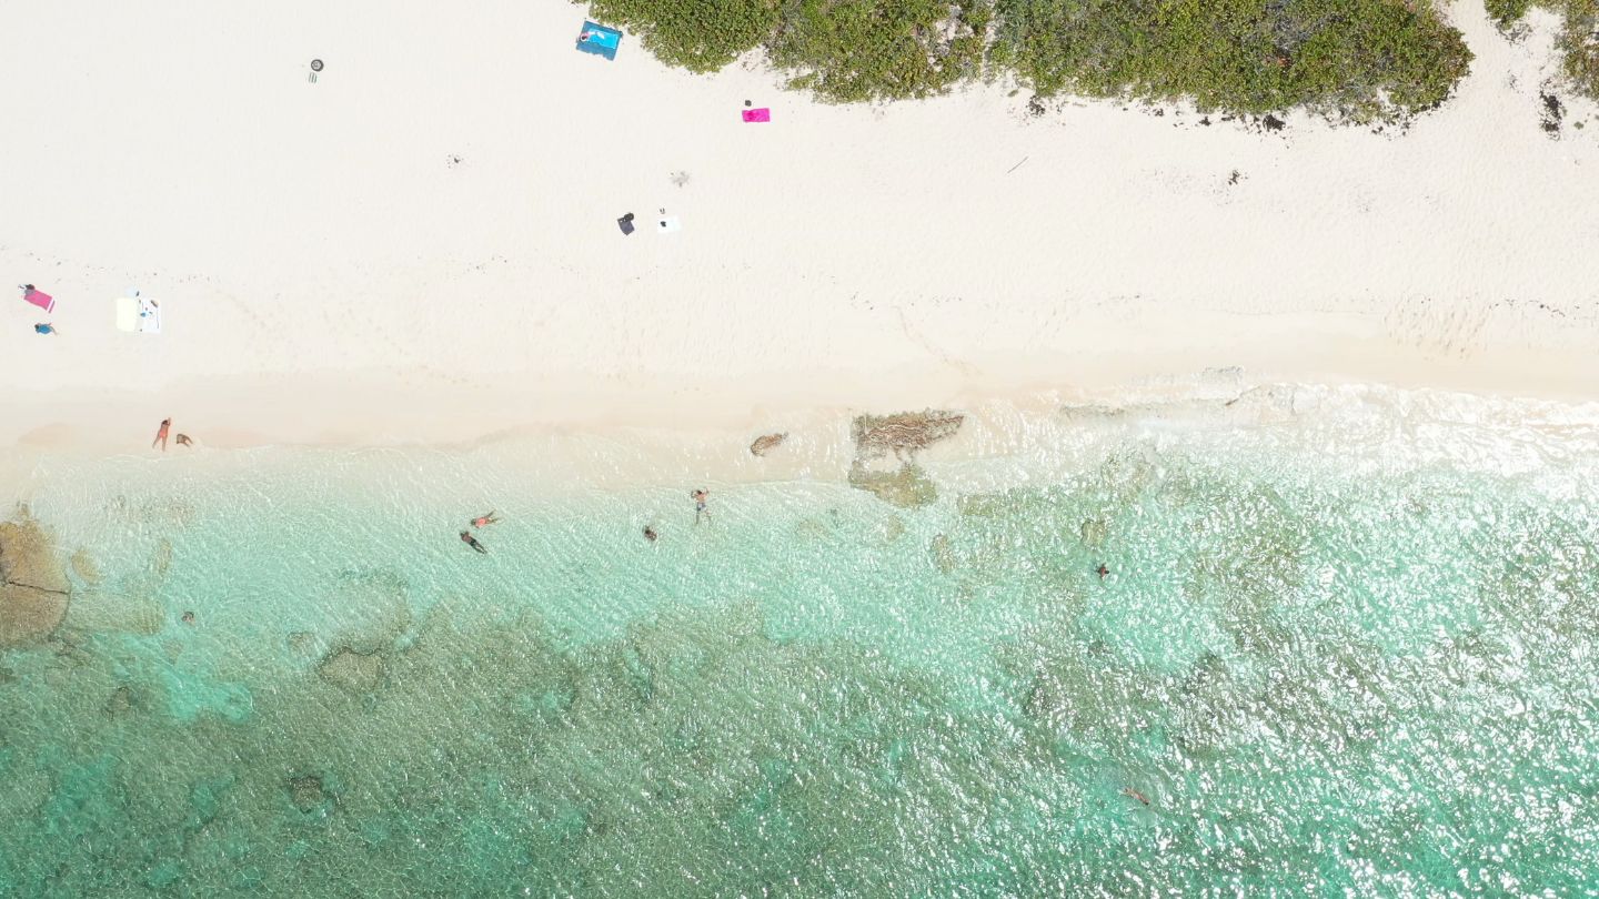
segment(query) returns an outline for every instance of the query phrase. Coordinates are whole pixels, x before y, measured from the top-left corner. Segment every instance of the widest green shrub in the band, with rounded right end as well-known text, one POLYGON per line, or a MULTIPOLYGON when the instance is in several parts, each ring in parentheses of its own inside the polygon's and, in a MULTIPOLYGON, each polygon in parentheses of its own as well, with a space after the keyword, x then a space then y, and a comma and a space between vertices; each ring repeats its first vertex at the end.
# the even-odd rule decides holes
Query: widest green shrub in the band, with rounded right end
POLYGON ((1399 0, 999 0, 1001 40, 1041 94, 1353 120, 1436 106, 1466 74, 1460 32, 1399 0))

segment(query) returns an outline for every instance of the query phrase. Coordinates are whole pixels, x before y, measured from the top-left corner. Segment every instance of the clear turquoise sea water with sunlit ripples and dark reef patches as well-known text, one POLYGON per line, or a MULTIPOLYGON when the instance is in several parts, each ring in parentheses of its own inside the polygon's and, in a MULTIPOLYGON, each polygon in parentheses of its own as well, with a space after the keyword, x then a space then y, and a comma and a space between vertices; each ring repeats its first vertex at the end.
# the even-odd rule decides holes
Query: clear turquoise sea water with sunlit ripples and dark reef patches
POLYGON ((1599 891, 1599 413, 1025 429, 699 526, 534 440, 30 461, 82 555, 0 651, 0 896, 1599 891))

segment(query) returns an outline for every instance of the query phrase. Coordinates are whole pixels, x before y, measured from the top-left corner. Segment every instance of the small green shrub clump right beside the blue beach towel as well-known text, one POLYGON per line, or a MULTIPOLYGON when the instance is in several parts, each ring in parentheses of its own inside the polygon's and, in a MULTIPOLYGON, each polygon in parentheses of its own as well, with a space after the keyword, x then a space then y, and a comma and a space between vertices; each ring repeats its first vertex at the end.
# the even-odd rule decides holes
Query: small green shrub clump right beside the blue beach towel
POLYGON ((668 66, 715 72, 777 27, 777 0, 593 0, 590 14, 640 35, 668 66))

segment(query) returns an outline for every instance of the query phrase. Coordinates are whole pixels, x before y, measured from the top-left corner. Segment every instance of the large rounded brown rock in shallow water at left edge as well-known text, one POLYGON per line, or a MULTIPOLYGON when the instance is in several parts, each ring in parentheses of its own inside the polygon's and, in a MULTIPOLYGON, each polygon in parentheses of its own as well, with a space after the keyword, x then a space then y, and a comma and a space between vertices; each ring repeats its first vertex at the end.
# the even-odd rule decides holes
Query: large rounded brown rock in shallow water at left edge
POLYGON ((67 573, 27 509, 0 521, 0 646, 40 643, 67 614, 67 573))

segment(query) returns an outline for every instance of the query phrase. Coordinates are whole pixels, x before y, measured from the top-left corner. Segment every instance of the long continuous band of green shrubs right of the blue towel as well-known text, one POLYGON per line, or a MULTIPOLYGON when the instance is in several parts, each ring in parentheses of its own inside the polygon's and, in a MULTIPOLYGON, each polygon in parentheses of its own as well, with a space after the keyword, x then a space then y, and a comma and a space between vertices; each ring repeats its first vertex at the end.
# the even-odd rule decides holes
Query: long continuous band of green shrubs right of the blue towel
MULTIPOLYGON (((1527 0, 1492 2, 1511 16, 1527 0)), ((1428 0, 595 0, 593 14, 694 72, 764 48, 790 86, 839 102, 1012 72, 1043 96, 1369 122, 1436 106, 1471 61, 1428 0)))

